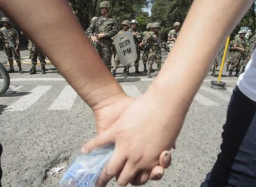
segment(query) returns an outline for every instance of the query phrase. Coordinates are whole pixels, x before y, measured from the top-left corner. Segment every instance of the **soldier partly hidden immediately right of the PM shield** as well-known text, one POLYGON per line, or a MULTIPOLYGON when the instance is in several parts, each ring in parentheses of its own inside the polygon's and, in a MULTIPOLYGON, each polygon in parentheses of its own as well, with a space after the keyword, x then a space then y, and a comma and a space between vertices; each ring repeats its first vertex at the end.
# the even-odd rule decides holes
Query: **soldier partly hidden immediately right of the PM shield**
POLYGON ((140 74, 140 71, 139 71, 140 51, 141 51, 140 49, 143 47, 142 33, 138 31, 139 23, 137 20, 132 20, 130 24, 131 24, 130 31, 132 31, 132 34, 134 35, 134 42, 135 42, 135 46, 137 48, 137 54, 138 54, 138 58, 134 63, 135 73, 140 74))

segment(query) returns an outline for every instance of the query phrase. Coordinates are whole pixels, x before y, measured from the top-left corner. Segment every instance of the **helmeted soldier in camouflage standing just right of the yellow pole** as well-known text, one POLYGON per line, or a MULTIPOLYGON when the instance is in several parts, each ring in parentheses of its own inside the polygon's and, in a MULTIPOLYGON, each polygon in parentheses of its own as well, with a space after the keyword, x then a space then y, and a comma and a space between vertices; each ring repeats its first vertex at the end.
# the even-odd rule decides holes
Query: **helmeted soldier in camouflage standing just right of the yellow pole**
POLYGON ((233 71, 236 70, 236 75, 239 76, 239 63, 241 62, 242 58, 245 54, 245 41, 244 37, 246 31, 239 31, 239 38, 236 38, 232 42, 230 57, 228 58, 227 62, 227 71, 229 71, 229 77, 233 76, 233 71), (230 67, 229 67, 230 66, 230 67))

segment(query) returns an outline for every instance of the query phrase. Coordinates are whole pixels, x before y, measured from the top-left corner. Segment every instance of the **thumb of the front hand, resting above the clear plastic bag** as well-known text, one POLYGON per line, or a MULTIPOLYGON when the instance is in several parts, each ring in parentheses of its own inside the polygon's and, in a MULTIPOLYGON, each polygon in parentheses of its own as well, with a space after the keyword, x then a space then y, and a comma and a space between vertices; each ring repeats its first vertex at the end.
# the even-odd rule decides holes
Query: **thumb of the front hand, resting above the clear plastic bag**
POLYGON ((85 143, 85 145, 82 146, 81 151, 83 154, 87 154, 95 148, 100 148, 112 143, 114 143, 113 134, 110 130, 107 130, 104 133, 98 135, 96 138, 90 140, 88 143, 85 143))

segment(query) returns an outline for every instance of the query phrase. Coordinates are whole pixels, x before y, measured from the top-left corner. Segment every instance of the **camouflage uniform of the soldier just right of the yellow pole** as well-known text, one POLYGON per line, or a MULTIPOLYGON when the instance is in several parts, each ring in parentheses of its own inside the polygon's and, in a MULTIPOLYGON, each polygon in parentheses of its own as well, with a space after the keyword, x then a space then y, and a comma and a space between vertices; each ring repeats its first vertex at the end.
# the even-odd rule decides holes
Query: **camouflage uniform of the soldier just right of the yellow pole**
MULTIPOLYGON (((241 38, 236 38, 232 41, 233 46, 236 45, 237 47, 241 47, 245 49, 245 41, 241 38)), ((231 48, 230 57, 228 58, 227 62, 227 70, 229 71, 229 76, 232 76, 232 71, 236 70, 236 73, 239 74, 239 63, 241 62, 242 58, 244 57, 244 53, 240 50, 231 48), (230 66, 230 68, 229 68, 230 66)))

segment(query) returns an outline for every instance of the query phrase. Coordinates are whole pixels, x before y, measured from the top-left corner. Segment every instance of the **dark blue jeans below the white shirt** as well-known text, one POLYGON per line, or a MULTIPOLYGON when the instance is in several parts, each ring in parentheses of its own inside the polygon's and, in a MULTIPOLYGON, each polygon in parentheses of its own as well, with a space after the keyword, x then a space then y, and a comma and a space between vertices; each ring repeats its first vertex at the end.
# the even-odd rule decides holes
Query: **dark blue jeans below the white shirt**
POLYGON ((223 129, 221 153, 201 187, 255 187, 256 103, 237 87, 223 129))

